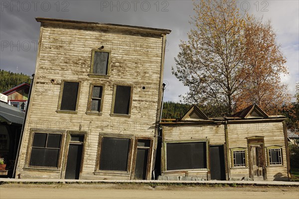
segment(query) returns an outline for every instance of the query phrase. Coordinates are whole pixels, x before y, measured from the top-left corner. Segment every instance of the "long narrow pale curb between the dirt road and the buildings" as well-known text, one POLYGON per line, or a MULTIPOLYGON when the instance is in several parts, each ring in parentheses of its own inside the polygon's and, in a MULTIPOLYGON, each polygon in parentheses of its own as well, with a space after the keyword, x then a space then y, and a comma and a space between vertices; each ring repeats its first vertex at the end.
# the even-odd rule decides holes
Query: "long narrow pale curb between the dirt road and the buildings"
POLYGON ((160 181, 160 180, 65 180, 65 179, 9 179, 0 178, 0 184, 9 183, 139 183, 139 184, 188 184, 188 185, 254 185, 254 186, 295 186, 299 187, 299 182, 284 181, 160 181))

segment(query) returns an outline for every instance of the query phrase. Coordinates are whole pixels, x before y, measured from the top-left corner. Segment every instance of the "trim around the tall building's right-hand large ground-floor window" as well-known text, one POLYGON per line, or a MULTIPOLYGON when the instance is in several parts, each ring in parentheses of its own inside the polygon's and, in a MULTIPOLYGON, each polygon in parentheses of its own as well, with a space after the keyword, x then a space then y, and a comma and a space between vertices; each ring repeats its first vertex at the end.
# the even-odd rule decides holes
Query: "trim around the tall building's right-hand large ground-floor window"
POLYGON ((130 176, 131 172, 132 172, 133 151, 134 151, 134 136, 133 135, 111 135, 111 134, 103 134, 103 133, 100 134, 94 175, 124 174, 124 175, 130 176), (130 139, 127 171, 100 170, 101 150, 102 150, 102 142, 103 142, 104 137, 130 139))

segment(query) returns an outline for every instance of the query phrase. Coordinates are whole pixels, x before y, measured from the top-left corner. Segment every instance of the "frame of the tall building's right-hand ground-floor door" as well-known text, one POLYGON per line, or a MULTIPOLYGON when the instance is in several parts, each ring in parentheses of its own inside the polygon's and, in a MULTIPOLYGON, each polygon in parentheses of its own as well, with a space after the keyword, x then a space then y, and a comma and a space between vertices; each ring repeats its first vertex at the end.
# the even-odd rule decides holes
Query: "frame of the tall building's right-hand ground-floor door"
POLYGON ((151 177, 151 168, 152 168, 152 146, 153 146, 153 139, 151 137, 135 137, 135 143, 134 143, 134 153, 133 153, 133 163, 132 163, 132 173, 131 173, 131 180, 134 180, 135 177, 135 167, 136 167, 136 158, 137 158, 137 149, 142 148, 138 147, 138 140, 150 140, 150 145, 149 145, 149 155, 148 155, 148 168, 147 168, 147 178, 146 180, 151 180, 149 179, 151 177))

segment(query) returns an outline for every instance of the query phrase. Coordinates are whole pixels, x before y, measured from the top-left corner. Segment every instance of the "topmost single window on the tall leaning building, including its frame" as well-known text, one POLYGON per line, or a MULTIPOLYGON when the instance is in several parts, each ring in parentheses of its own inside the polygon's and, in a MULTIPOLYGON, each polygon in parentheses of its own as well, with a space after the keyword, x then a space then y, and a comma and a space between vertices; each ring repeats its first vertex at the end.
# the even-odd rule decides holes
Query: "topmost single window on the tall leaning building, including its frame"
POLYGON ((110 61, 111 51, 93 49, 89 77, 109 77, 110 61))

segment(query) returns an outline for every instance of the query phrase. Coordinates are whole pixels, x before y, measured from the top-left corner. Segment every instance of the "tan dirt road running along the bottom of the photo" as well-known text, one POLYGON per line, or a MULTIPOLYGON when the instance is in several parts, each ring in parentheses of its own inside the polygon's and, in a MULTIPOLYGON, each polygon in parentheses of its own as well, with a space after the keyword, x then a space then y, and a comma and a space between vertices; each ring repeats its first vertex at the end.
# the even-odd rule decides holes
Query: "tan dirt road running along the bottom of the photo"
POLYGON ((4 184, 0 199, 299 199, 299 191, 298 187, 4 184))

